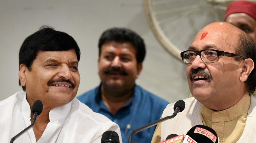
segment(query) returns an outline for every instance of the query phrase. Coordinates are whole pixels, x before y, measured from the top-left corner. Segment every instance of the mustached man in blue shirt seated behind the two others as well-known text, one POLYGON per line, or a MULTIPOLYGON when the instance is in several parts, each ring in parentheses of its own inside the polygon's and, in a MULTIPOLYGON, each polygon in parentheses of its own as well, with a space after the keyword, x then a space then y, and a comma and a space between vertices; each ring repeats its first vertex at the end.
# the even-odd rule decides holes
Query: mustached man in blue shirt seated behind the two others
MULTIPOLYGON (((135 84, 146 55, 138 34, 126 28, 111 28, 103 32, 98 46, 101 83, 78 100, 118 124, 127 143, 131 131, 159 119, 168 102, 135 84)), ((149 143, 155 128, 134 134, 132 141, 149 143)))

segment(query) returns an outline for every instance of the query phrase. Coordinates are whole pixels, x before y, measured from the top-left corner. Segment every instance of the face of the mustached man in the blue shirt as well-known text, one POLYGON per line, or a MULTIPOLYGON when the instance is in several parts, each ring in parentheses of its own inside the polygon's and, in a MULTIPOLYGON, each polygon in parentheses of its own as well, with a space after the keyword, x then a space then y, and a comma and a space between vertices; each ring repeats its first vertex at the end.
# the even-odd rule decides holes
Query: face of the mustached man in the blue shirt
POLYGON ((136 50, 130 43, 109 41, 103 44, 98 60, 102 86, 131 89, 139 77, 142 64, 136 61, 136 50))

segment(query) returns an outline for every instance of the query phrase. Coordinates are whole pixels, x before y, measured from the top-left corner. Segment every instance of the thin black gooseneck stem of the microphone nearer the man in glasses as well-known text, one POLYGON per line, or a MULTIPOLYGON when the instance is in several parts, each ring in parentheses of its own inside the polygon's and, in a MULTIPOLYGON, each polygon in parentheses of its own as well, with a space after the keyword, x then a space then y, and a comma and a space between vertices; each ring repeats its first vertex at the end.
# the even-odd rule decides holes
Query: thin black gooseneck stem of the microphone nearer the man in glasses
POLYGON ((132 142, 132 136, 133 136, 133 134, 135 134, 135 133, 137 133, 137 132, 140 132, 140 131, 143 131, 143 130, 146 130, 146 129, 148 129, 148 128, 150 128, 150 127, 152 127, 152 126, 154 126, 154 125, 156 125, 156 124, 158 124, 158 123, 164 122, 165 120, 172 119, 172 118, 174 118, 179 112, 180 112, 180 108, 179 108, 179 107, 176 107, 175 111, 173 112, 173 114, 172 114, 171 116, 164 117, 164 118, 162 118, 162 119, 159 119, 159 120, 156 120, 156 121, 154 121, 154 122, 151 122, 151 123, 149 123, 149 124, 147 124, 147 125, 145 125, 145 126, 142 126, 142 127, 140 127, 140 128, 137 128, 137 129, 135 129, 135 130, 132 130, 132 132, 131 132, 131 134, 130 134, 130 136, 129 136, 129 143, 132 142))

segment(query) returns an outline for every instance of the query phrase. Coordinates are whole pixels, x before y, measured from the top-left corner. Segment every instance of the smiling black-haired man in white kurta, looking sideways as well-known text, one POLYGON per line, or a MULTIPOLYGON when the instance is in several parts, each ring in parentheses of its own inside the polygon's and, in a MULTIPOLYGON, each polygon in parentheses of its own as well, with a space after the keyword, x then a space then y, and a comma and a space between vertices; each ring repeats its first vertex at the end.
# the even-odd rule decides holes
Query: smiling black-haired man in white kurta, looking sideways
POLYGON ((19 81, 23 92, 0 102, 0 142, 28 127, 37 100, 43 110, 31 129, 14 143, 100 143, 117 124, 94 113, 75 97, 80 83, 80 49, 67 33, 49 27, 28 36, 19 52, 19 81))

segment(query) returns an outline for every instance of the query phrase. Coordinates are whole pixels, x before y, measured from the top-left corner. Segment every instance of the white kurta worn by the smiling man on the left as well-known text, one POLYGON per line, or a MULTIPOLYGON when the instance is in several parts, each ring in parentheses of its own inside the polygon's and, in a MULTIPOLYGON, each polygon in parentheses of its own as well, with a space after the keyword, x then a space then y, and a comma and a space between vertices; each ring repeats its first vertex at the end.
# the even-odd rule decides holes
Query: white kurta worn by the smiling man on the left
MULTIPOLYGON (((25 95, 25 92, 17 92, 0 102, 1 143, 10 142, 12 137, 31 124, 30 107, 25 95)), ((100 143, 102 134, 108 130, 117 132, 122 143, 117 124, 93 112, 76 98, 52 109, 49 118, 50 122, 37 143, 100 143)), ((36 143, 33 129, 29 129, 14 143, 36 143)))

